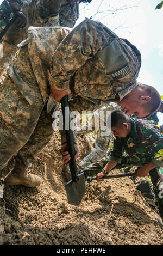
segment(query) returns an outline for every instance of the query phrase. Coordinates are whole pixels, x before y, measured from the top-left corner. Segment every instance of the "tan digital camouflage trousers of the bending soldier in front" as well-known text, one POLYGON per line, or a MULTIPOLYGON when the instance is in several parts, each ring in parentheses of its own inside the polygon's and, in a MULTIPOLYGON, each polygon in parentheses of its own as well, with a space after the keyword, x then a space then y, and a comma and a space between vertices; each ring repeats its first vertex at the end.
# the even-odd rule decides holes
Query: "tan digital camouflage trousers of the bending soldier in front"
POLYGON ((27 168, 53 135, 52 112, 47 114, 38 86, 35 92, 35 102, 30 105, 10 78, 6 77, 3 82, 0 94, 0 169, 7 166, 17 153, 17 162, 22 164, 22 169, 27 168))

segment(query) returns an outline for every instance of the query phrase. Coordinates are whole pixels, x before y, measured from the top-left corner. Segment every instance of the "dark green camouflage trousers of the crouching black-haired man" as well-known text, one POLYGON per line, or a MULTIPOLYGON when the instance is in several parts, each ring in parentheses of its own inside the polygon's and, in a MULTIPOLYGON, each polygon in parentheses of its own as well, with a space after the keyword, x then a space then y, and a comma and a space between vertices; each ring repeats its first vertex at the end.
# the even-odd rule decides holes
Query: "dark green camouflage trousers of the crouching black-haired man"
MULTIPOLYGON (((109 158, 107 156, 103 157, 103 159, 84 168, 85 175, 93 176, 101 172, 105 165, 109 162, 108 159, 109 158)), ((133 166, 138 166, 136 162, 133 162, 133 159, 130 159, 130 157, 122 156, 121 164, 118 163, 113 169, 121 169, 133 166)), ((159 172, 159 167, 156 167, 149 172, 149 175, 153 184, 156 203, 159 206, 160 216, 163 218, 163 174, 159 172)))

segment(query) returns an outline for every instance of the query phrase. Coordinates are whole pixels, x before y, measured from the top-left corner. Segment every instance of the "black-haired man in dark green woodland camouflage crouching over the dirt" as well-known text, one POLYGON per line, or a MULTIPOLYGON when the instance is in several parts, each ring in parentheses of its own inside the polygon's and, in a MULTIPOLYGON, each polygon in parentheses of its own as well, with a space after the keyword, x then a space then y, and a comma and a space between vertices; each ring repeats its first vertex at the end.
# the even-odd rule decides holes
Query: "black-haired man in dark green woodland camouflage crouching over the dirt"
POLYGON ((110 114, 114 144, 110 155, 84 169, 86 175, 103 178, 111 169, 139 166, 136 176, 151 176, 160 216, 163 218, 163 136, 159 127, 149 121, 129 118, 122 111, 110 114), (127 154, 123 155, 123 152, 127 154))

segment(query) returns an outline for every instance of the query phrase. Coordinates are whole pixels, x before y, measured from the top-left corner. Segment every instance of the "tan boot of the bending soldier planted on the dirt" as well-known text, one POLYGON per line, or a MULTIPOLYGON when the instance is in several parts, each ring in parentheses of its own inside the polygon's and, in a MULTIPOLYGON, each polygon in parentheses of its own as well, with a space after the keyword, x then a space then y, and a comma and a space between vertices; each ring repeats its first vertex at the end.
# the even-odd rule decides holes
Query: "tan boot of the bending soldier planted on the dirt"
POLYGON ((37 187, 41 184, 41 178, 25 170, 16 170, 15 168, 5 176, 5 183, 9 186, 23 185, 26 187, 37 187))

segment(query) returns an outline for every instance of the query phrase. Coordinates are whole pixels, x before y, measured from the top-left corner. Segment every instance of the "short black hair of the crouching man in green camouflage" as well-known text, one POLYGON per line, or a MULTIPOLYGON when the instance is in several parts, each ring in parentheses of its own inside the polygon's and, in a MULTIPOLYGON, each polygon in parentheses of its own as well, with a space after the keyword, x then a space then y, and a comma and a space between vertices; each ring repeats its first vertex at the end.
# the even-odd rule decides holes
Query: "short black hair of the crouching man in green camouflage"
POLYGON ((121 110, 114 110, 110 114, 111 127, 120 127, 123 123, 130 124, 131 119, 121 110))

